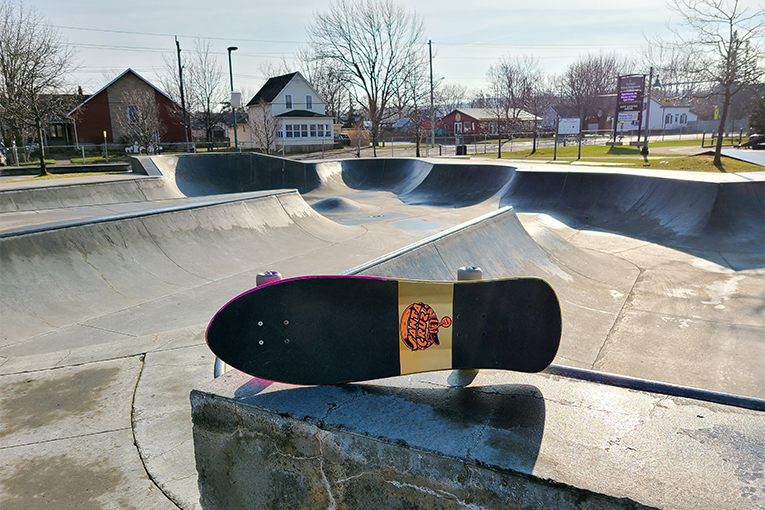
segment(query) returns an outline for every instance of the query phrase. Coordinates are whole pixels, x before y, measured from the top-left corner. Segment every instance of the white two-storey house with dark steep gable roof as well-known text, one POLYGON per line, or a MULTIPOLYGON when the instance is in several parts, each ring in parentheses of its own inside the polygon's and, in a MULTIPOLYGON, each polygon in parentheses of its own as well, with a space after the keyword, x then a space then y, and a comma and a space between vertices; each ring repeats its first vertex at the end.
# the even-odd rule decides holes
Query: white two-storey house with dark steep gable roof
POLYGON ((326 102, 300 73, 270 78, 247 103, 247 111, 254 148, 294 152, 334 143, 334 119, 326 115, 326 102))

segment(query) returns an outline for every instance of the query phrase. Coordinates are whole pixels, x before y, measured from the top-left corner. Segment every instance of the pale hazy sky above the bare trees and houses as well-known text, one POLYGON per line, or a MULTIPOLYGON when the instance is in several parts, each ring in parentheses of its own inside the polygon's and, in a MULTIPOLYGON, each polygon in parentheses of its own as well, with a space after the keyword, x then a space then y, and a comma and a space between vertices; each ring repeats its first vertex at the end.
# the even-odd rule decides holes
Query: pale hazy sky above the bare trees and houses
MULTIPOLYGON (((131 67, 156 83, 163 52, 175 56, 174 35, 184 52, 208 38, 228 70, 233 55, 236 89, 254 91, 267 79, 264 62, 289 61, 305 45, 306 26, 329 0, 211 2, 188 0, 26 0, 58 27, 77 50, 75 84, 94 92, 108 77, 131 67), (127 33, 124 33, 127 32, 127 33)), ((751 9, 758 0, 743 0, 751 9)), ((533 54, 549 73, 559 73, 586 52, 637 55, 646 37, 669 35, 676 14, 664 0, 563 1, 441 0, 409 3, 424 20, 436 53, 434 77, 469 90, 485 86, 486 71, 503 55, 533 54)), ((636 69, 635 72, 647 72, 636 69)))

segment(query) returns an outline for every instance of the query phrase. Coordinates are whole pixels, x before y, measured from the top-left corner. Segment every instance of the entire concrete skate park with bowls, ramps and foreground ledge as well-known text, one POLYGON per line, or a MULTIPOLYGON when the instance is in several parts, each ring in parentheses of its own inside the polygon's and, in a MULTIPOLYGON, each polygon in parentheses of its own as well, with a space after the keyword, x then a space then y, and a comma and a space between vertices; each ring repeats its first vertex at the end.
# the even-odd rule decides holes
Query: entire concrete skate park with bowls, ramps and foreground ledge
POLYGON ((101 462, 123 475, 112 490, 152 508, 765 498, 765 173, 257 154, 132 169, 0 188, 5 501, 43 490, 24 482, 43 465, 65 480, 101 462), (444 373, 210 381, 206 323, 259 272, 454 280, 466 265, 550 282, 557 372, 481 371, 462 388, 444 373))

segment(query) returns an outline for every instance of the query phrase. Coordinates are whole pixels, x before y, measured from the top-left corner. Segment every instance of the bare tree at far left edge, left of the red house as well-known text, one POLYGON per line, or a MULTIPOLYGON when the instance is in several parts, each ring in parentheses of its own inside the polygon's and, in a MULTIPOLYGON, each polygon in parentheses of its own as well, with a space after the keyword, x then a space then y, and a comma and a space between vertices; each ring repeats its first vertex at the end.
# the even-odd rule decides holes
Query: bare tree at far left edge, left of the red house
POLYGON ((73 58, 74 50, 34 8, 0 2, 0 124, 18 144, 25 130, 33 130, 40 142, 41 175, 48 173, 45 128, 73 106, 61 94, 73 58))

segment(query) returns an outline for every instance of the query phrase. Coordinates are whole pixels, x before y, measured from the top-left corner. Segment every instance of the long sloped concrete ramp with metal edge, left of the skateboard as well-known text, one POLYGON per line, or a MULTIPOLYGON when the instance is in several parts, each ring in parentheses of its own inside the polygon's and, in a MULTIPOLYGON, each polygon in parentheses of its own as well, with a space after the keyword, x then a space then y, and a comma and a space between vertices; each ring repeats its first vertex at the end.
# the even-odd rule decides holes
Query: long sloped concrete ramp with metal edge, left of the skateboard
MULTIPOLYGON (((73 339, 95 317, 260 267, 276 253, 298 256, 364 232, 327 220, 297 192, 283 191, 6 236, 4 352, 19 355, 46 342, 61 349, 67 345, 41 335, 68 331, 73 339)), ((101 341, 115 339, 119 328, 111 330, 101 332, 101 341)))

